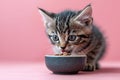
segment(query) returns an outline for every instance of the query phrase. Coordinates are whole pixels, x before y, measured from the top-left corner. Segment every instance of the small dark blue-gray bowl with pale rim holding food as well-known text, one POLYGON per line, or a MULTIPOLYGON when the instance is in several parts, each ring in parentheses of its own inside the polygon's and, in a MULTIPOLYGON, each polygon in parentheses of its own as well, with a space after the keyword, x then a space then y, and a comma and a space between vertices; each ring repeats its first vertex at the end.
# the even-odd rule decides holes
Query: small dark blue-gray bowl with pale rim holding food
POLYGON ((83 70, 86 63, 86 55, 45 55, 45 63, 47 68, 53 73, 76 74, 83 70))

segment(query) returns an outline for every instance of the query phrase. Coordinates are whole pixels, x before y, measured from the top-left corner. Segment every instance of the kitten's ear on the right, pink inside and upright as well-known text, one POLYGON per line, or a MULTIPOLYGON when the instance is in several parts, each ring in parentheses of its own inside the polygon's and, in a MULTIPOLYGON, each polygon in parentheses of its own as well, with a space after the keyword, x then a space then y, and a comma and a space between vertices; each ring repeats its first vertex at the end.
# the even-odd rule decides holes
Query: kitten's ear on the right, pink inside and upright
POLYGON ((93 22, 91 5, 87 5, 73 20, 85 26, 91 25, 93 22))

